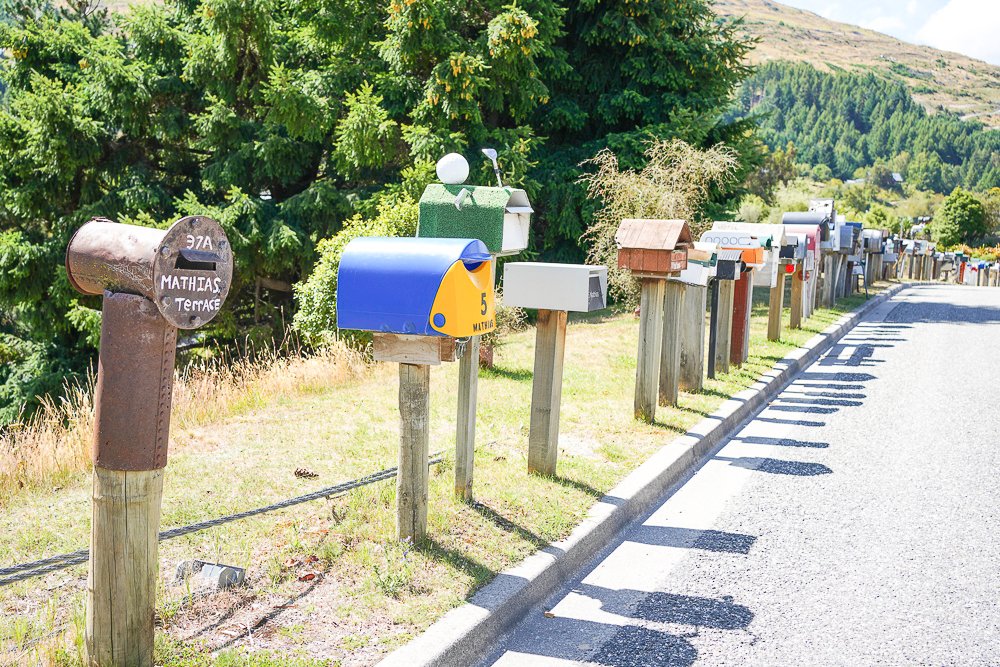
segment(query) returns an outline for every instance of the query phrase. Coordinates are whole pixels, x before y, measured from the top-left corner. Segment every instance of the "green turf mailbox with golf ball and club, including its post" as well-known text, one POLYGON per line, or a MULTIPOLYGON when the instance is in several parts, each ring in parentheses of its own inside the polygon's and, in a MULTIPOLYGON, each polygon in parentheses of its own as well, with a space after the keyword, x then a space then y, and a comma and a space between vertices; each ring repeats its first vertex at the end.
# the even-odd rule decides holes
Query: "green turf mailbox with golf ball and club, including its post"
MULTIPOLYGON (((495 154, 492 157, 495 158, 495 154)), ((469 164, 457 153, 441 158, 437 174, 442 183, 428 185, 420 197, 417 236, 479 239, 492 256, 495 278, 497 257, 516 255, 528 247, 528 231, 534 211, 527 193, 501 185, 463 185, 469 175, 469 164)), ((493 284, 495 280, 491 282, 491 290, 493 284)), ((472 500, 479 339, 479 336, 472 337, 458 366, 455 495, 464 500, 472 500)))

